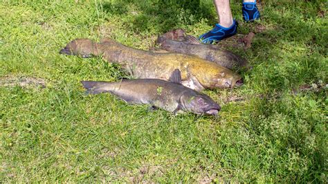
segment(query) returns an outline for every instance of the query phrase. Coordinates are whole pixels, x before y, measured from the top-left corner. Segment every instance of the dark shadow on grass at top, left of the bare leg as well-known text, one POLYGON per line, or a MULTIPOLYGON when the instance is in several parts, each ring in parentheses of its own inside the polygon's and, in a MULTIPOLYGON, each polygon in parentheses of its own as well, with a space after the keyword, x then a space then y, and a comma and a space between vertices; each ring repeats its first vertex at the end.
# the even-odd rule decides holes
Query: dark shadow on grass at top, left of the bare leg
POLYGON ((207 19, 211 24, 215 24, 217 17, 213 16, 211 6, 213 6, 212 1, 201 2, 200 0, 160 0, 156 3, 147 0, 122 0, 102 4, 102 8, 106 13, 113 15, 133 14, 134 19, 129 23, 129 28, 137 33, 149 30, 154 26, 158 32, 164 33, 181 24, 191 25, 197 23, 200 19, 207 19), (142 13, 133 12, 131 7, 142 13))

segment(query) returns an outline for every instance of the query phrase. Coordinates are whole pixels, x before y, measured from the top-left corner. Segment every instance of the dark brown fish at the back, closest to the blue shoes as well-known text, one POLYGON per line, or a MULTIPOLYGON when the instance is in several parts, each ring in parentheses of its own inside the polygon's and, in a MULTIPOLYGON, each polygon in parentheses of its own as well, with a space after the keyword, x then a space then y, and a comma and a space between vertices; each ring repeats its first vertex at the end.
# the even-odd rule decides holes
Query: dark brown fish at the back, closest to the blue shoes
POLYGON ((158 37, 156 44, 159 44, 161 49, 176 53, 197 55, 229 69, 244 68, 248 64, 246 59, 228 50, 219 48, 217 45, 201 44, 196 37, 185 35, 182 29, 171 30, 163 34, 158 37))

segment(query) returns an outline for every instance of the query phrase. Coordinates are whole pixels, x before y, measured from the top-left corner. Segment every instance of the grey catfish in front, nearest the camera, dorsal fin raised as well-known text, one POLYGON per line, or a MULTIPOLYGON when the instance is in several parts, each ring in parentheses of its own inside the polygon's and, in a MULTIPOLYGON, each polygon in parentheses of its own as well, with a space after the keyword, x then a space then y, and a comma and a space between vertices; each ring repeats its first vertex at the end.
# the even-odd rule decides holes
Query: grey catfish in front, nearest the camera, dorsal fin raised
POLYGON ((122 80, 122 82, 82 81, 86 93, 113 93, 129 104, 151 104, 172 113, 192 112, 217 115, 219 104, 208 95, 181 85, 181 73, 174 70, 170 82, 157 79, 122 80))

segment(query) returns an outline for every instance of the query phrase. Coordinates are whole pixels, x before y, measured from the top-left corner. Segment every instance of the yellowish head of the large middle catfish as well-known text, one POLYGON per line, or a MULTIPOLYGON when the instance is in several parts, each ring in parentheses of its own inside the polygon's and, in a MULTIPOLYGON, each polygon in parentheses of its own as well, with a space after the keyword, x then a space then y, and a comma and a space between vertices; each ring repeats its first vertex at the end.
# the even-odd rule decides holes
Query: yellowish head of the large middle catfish
POLYGON ((213 75, 210 80, 210 88, 233 88, 234 86, 242 86, 242 84, 242 77, 233 72, 222 71, 217 75, 213 75))

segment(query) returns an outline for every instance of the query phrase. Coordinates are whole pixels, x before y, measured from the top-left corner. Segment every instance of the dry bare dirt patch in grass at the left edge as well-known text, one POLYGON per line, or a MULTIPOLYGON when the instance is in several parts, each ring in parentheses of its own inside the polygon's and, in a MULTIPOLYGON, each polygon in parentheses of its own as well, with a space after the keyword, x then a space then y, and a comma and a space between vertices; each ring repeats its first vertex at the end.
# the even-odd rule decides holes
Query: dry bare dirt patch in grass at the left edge
POLYGON ((21 86, 24 88, 45 88, 46 81, 37 77, 14 77, 3 76, 0 77, 0 87, 21 86))

